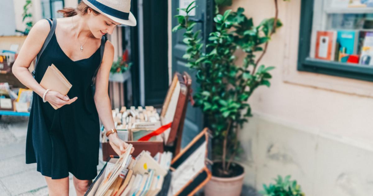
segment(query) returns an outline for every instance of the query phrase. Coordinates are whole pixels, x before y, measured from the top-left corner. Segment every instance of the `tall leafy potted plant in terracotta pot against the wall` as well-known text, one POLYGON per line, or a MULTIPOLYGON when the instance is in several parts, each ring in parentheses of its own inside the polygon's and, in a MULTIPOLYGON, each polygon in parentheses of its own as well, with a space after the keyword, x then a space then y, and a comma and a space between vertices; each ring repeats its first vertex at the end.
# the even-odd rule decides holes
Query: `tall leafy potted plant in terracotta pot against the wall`
POLYGON ((187 66, 197 71, 197 83, 200 84, 193 96, 195 106, 202 109, 208 127, 213 131, 213 177, 205 186, 205 195, 239 195, 244 168, 234 161, 242 151, 238 132, 252 116, 248 98, 260 85, 270 86, 272 76, 269 71, 274 67, 259 63, 271 35, 282 26, 277 18, 277 0, 275 17, 264 19, 257 26, 252 18, 243 14, 241 7, 236 12, 226 10, 223 15, 217 10, 215 30, 209 34, 206 53, 198 37, 200 30, 194 31, 196 23, 189 20, 194 2, 179 9, 186 15, 175 16, 179 24, 172 31, 185 30, 183 41, 187 48, 183 58, 187 59, 187 66), (246 53, 241 65, 236 64, 237 49, 246 53))

